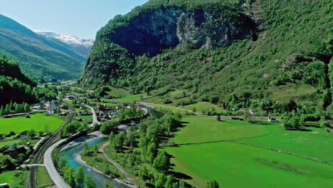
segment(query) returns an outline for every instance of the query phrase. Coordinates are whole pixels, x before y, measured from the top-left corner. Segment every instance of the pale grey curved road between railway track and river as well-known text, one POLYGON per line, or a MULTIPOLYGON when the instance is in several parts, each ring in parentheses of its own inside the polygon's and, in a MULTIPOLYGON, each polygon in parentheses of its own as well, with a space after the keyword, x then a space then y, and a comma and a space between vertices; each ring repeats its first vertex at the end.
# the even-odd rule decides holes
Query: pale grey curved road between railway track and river
MULTIPOLYGON (((93 127, 95 123, 99 123, 97 121, 96 112, 95 112, 95 109, 93 109, 92 107, 90 107, 88 105, 86 105, 86 106, 88 108, 90 108, 91 112, 93 113, 93 123, 91 125, 89 125, 89 127, 93 127)), ((76 134, 78 134, 78 133, 76 133, 76 134)), ((56 147, 58 147, 58 145, 60 145, 61 143, 65 142, 65 141, 66 141, 66 139, 59 140, 54 145, 49 147, 48 150, 46 150, 46 152, 45 152, 44 160, 43 160, 44 166, 46 167, 46 170, 48 171, 48 175, 53 180, 53 183, 56 184, 56 187, 59 187, 59 188, 70 188, 70 186, 63 180, 63 178, 58 173, 56 167, 54 166, 53 160, 52 160, 52 152, 54 149, 56 149, 56 147)))

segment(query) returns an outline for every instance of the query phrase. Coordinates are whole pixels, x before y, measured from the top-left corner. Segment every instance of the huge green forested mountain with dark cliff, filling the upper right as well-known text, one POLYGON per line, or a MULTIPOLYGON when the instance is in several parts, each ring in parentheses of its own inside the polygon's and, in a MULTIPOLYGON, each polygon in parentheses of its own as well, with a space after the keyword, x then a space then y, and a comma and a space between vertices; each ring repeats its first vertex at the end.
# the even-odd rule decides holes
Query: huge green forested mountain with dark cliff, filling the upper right
POLYGON ((229 110, 292 109, 290 100, 327 108, 331 8, 329 0, 150 0, 101 28, 80 84, 160 98, 183 90, 229 110))

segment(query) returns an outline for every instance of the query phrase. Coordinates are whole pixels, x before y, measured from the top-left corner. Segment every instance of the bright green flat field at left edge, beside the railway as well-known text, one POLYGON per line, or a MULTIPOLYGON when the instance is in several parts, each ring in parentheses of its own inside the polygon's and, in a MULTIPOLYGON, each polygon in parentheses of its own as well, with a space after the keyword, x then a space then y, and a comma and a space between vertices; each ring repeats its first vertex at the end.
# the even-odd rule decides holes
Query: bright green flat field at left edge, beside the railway
POLYGON ((60 120, 56 116, 46 116, 41 113, 30 115, 30 117, 0 119, 0 134, 7 134, 11 131, 19 133, 26 130, 35 130, 36 132, 55 131, 64 122, 64 120, 60 120))

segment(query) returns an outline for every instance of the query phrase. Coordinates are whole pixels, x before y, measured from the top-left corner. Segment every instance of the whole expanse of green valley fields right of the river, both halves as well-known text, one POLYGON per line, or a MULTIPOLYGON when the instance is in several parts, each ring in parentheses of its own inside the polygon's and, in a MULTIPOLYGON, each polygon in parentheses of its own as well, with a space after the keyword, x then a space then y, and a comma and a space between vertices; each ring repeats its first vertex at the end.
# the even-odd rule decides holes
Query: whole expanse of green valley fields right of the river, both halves
POLYGON ((186 181, 204 187, 216 179, 221 187, 330 187, 333 166, 295 155, 266 150, 263 147, 294 152, 332 162, 333 145, 328 133, 287 131, 280 125, 250 125, 245 121, 216 121, 216 117, 187 116, 185 127, 175 133, 176 143, 199 143, 237 140, 259 147, 234 142, 215 142, 167 147, 174 157, 174 170, 191 179, 186 181))

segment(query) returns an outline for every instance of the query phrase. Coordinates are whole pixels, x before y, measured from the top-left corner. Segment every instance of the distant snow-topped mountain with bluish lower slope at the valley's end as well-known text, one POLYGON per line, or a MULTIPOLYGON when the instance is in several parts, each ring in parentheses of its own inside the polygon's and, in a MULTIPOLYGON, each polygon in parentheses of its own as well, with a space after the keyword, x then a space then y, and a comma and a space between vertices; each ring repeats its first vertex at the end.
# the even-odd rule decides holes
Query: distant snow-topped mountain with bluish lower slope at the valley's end
POLYGON ((72 51, 75 51, 75 53, 80 54, 83 57, 88 57, 91 47, 93 47, 94 41, 91 39, 81 39, 77 36, 73 36, 70 34, 60 34, 60 33, 54 33, 50 31, 34 31, 35 33, 38 33, 39 35, 45 36, 49 39, 56 39, 59 41, 62 41, 63 43, 68 44, 69 48, 72 49, 72 51))

